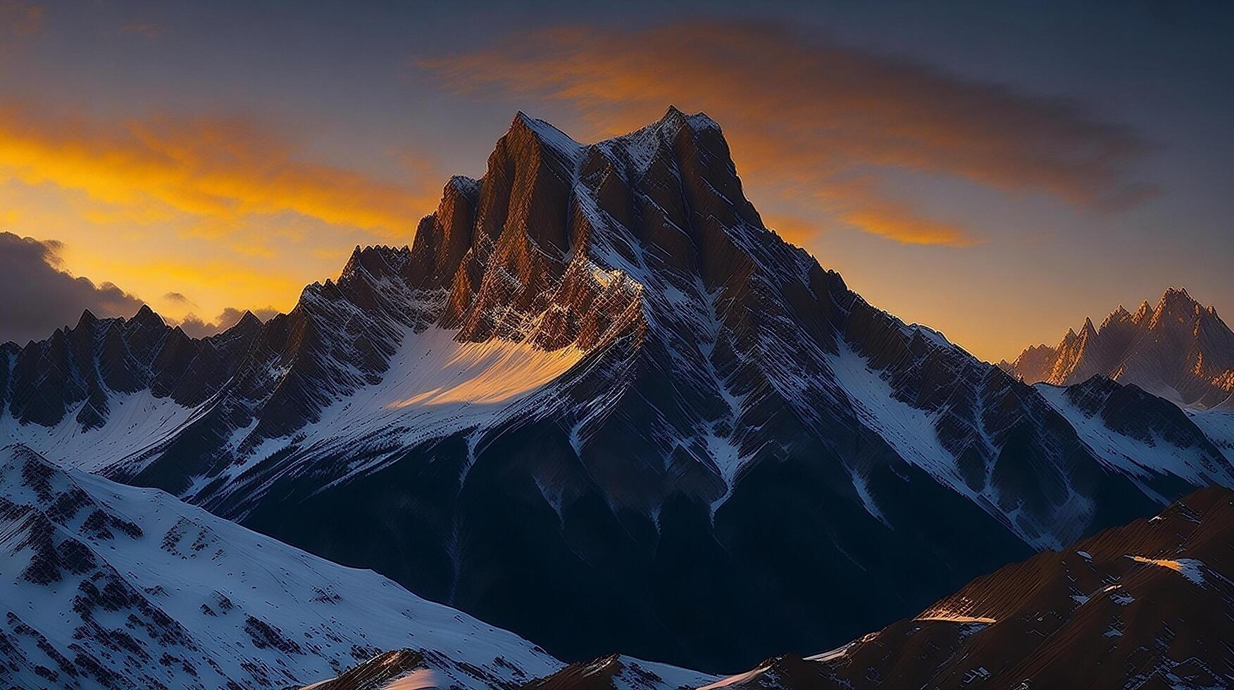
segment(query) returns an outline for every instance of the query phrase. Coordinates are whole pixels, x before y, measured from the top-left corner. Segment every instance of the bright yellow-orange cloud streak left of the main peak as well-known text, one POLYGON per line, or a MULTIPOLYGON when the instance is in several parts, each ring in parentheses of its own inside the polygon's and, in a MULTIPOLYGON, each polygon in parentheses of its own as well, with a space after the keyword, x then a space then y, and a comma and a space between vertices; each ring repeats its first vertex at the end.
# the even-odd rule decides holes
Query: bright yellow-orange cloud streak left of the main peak
POLYGON ((95 122, 0 109, 0 181, 80 190, 137 221, 185 215, 226 230, 290 212, 406 235, 436 206, 437 180, 427 178, 413 186, 306 160, 284 137, 241 120, 95 122))

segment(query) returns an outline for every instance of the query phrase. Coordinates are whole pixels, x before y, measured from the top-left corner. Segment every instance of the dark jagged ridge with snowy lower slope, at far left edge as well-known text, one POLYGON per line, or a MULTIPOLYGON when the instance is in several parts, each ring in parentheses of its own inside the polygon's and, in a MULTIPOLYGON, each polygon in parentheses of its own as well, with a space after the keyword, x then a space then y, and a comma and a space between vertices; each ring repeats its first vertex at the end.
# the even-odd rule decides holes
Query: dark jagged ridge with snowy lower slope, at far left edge
POLYGON ((262 331, 251 312, 194 339, 148 306, 89 311, 49 338, 0 344, 0 446, 23 443, 97 472, 180 430, 227 383, 262 331))

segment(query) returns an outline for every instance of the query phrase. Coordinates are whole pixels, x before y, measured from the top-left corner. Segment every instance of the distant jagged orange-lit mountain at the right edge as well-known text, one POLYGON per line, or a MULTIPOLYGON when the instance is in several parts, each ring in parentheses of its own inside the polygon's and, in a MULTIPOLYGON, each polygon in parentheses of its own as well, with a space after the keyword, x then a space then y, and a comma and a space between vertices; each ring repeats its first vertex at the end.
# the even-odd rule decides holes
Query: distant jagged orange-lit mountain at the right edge
POLYGON ((1058 346, 1030 347, 1001 367, 1030 384, 1071 385, 1101 374, 1180 405, 1215 407, 1234 396, 1234 332, 1215 309, 1170 288, 1156 309, 1146 300, 1135 314, 1119 306, 1101 327, 1086 318, 1058 346))

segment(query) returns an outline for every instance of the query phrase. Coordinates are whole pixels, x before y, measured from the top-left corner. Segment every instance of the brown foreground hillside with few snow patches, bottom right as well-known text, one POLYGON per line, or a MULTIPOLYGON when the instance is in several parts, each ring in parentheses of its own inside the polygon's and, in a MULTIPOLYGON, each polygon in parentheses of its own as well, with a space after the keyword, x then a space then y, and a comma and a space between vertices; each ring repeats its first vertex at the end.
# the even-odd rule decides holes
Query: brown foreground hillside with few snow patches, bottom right
POLYGON ((842 648, 769 659, 713 686, 1229 688, 1232 543, 1234 491, 1204 489, 1151 520, 1001 568, 842 648))

